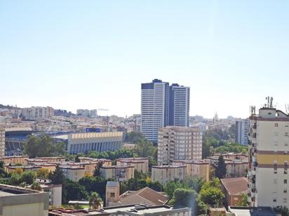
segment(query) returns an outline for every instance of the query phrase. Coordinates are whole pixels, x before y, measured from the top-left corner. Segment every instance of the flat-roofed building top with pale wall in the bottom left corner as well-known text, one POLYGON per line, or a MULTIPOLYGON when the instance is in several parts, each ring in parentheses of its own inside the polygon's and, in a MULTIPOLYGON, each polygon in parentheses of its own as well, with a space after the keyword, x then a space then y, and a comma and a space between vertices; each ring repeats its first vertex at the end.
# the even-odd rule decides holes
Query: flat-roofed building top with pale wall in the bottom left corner
POLYGON ((48 215, 48 193, 0 185, 1 216, 48 215))

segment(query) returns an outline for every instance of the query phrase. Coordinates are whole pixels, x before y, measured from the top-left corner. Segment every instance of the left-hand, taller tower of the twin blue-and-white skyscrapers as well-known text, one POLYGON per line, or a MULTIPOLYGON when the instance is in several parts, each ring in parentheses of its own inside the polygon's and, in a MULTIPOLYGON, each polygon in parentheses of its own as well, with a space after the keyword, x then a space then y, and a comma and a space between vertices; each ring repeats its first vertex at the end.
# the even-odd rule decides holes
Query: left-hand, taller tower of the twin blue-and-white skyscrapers
POLYGON ((168 82, 153 80, 142 83, 141 127, 140 131, 149 141, 158 141, 158 131, 168 125, 168 82))

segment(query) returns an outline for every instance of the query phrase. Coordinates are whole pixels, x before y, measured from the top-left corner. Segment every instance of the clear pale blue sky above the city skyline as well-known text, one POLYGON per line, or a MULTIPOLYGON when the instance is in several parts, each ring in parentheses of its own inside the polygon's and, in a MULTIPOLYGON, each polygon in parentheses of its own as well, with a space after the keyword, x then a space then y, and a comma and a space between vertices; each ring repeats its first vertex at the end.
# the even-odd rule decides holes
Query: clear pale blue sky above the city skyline
POLYGON ((140 84, 191 87, 190 115, 289 103, 289 1, 0 1, 0 103, 140 113, 140 84))

